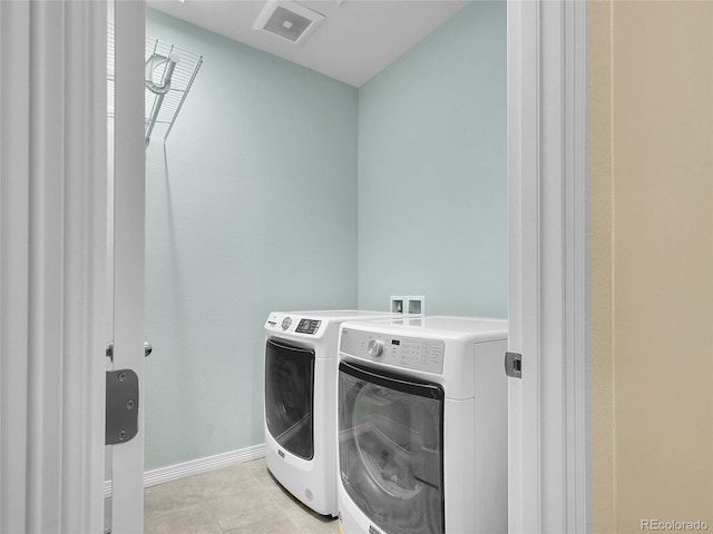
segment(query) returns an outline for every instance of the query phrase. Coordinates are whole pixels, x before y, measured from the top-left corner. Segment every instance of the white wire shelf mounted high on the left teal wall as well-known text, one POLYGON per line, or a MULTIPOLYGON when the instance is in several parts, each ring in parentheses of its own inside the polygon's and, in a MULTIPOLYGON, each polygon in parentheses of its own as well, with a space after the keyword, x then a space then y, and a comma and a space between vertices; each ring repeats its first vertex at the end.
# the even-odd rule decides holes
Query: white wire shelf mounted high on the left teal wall
MULTIPOLYGON (((114 117, 114 26, 108 24, 107 112, 109 117, 114 117)), ((159 39, 147 37, 145 60, 144 132, 146 146, 148 146, 149 138, 160 137, 164 142, 168 138, 176 122, 176 117, 203 65, 203 56, 159 39), (174 63, 173 67, 172 63, 174 63), (169 83, 166 83, 166 79, 170 80, 169 83), (152 90, 152 87, 155 90, 152 90)))

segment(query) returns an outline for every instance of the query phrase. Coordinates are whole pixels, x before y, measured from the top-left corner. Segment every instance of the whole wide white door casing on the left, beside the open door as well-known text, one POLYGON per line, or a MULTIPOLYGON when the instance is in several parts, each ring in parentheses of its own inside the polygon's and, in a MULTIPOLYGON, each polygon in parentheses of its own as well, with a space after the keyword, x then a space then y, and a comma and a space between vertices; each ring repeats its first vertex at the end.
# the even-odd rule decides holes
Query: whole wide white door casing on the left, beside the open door
POLYGON ((0 2, 0 531, 99 532, 106 6, 0 2))

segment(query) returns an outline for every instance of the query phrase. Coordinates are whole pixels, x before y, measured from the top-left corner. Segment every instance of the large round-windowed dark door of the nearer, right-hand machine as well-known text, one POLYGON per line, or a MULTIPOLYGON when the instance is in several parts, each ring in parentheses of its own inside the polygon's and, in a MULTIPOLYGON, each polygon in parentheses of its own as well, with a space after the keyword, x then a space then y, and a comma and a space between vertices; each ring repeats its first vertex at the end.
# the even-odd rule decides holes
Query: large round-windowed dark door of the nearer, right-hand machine
POLYGON ((339 366, 339 463, 359 508, 389 534, 440 534, 443 388, 364 367, 339 366))

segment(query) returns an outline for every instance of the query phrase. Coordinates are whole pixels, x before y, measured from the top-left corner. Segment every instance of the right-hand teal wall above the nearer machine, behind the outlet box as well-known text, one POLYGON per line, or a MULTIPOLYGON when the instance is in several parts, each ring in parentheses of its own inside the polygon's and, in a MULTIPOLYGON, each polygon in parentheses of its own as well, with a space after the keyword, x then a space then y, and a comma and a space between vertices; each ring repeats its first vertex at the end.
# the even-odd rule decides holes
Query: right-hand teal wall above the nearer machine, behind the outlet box
POLYGON ((473 2, 360 89, 360 307, 507 316, 506 39, 473 2))

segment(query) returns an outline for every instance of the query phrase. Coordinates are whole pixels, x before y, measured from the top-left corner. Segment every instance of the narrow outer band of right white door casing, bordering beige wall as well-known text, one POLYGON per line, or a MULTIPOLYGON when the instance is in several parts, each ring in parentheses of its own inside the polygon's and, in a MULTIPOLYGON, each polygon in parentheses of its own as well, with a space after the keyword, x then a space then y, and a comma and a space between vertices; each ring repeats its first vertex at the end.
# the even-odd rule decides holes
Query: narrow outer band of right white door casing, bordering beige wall
MULTIPOLYGON (((587 2, 565 3, 566 532, 593 532, 587 2), (567 179, 569 177, 569 179, 567 179)), ((561 201, 561 200, 560 200, 561 201)))

